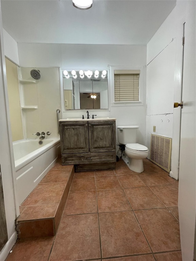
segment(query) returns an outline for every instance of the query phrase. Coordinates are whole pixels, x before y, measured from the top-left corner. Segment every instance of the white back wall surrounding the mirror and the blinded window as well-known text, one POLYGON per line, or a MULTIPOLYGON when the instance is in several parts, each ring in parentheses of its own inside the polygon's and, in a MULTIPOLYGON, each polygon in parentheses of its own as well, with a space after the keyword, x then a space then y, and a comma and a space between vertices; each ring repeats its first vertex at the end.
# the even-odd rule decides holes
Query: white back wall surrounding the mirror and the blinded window
MULTIPOLYGON (((22 67, 61 69, 108 69, 109 66, 142 66, 144 93, 142 106, 110 106, 110 110, 90 110, 97 117, 116 117, 116 125, 139 125, 138 142, 145 145, 146 46, 97 44, 18 43, 22 67)), ((111 88, 114 88, 111 86, 111 88)), ((63 112, 62 118, 82 117, 84 110, 63 112)))

